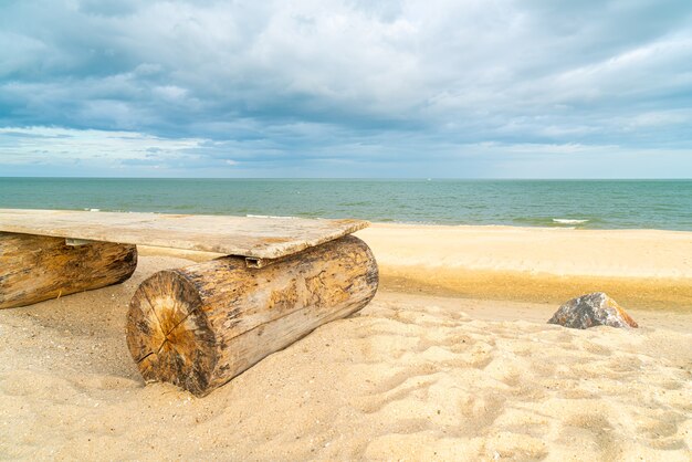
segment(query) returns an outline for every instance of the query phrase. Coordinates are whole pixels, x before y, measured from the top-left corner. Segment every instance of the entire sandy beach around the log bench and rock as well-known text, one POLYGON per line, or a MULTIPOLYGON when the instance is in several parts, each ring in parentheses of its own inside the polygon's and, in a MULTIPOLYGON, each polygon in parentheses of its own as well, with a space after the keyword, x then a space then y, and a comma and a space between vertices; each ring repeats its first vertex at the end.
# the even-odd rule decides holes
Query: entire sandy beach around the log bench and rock
POLYGON ((135 288, 0 311, 0 459, 660 460, 692 449, 692 233, 375 224, 376 298, 206 398, 144 386, 135 288), (639 329, 546 324, 605 291, 639 329))

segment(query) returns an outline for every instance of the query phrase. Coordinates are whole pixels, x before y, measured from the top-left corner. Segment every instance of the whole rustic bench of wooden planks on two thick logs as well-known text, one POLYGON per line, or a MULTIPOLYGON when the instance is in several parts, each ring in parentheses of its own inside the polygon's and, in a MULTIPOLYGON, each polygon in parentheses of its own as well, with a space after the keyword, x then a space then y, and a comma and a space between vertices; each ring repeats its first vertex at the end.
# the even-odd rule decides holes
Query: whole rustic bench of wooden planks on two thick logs
POLYGON ((127 280, 136 245, 228 256, 161 271, 129 304, 146 381, 203 396, 317 326, 365 306, 377 263, 361 220, 0 209, 0 308, 127 280))

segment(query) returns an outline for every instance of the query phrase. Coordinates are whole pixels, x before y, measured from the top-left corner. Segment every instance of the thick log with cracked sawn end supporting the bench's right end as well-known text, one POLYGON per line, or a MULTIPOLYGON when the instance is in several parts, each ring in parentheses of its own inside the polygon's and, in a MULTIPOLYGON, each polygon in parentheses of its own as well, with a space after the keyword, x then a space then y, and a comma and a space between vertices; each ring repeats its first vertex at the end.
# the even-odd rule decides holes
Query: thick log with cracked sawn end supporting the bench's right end
POLYGON ((365 306, 377 291, 370 249, 348 235, 261 269, 218 260, 141 283, 127 346, 145 381, 201 397, 316 327, 365 306))

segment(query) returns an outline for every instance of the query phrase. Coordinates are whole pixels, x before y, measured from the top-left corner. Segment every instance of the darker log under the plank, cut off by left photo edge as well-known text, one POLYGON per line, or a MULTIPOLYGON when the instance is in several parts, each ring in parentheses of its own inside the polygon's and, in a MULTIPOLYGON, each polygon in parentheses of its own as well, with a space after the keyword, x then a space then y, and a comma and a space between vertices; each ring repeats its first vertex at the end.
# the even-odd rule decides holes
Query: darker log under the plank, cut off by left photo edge
POLYGON ((117 284, 136 266, 135 245, 0 232, 0 308, 117 284))

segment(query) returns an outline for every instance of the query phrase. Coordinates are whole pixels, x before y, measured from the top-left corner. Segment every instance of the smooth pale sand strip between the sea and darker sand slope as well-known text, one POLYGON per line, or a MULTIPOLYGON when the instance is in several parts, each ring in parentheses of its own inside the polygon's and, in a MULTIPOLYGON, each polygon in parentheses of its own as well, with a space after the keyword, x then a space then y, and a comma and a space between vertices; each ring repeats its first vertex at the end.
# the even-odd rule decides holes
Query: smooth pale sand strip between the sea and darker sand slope
POLYGON ((692 232, 371 223, 356 233, 385 265, 565 276, 692 277, 692 232))

